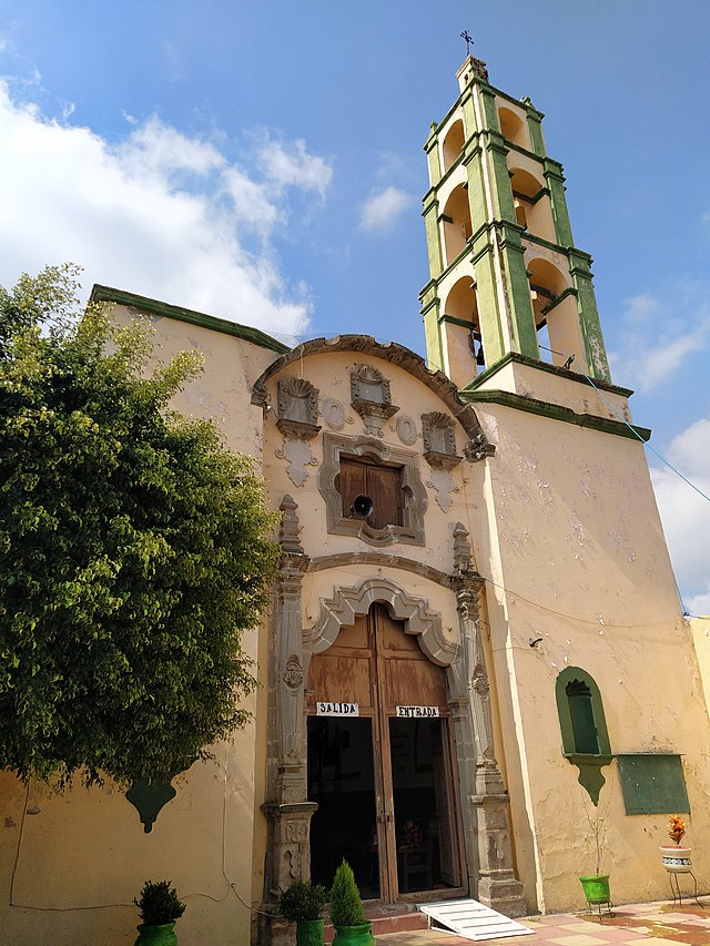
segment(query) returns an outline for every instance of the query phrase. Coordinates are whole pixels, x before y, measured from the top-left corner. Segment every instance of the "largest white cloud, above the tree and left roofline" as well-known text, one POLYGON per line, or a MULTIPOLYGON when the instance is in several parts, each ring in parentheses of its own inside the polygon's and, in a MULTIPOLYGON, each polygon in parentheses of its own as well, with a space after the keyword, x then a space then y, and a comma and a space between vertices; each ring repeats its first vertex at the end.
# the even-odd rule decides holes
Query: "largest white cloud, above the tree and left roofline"
POLYGON ((268 238, 288 213, 286 185, 323 194, 331 170, 284 141, 265 172, 158 119, 126 122, 111 145, 0 82, 0 283, 71 260, 91 283, 302 334, 307 289, 286 284, 268 238))

